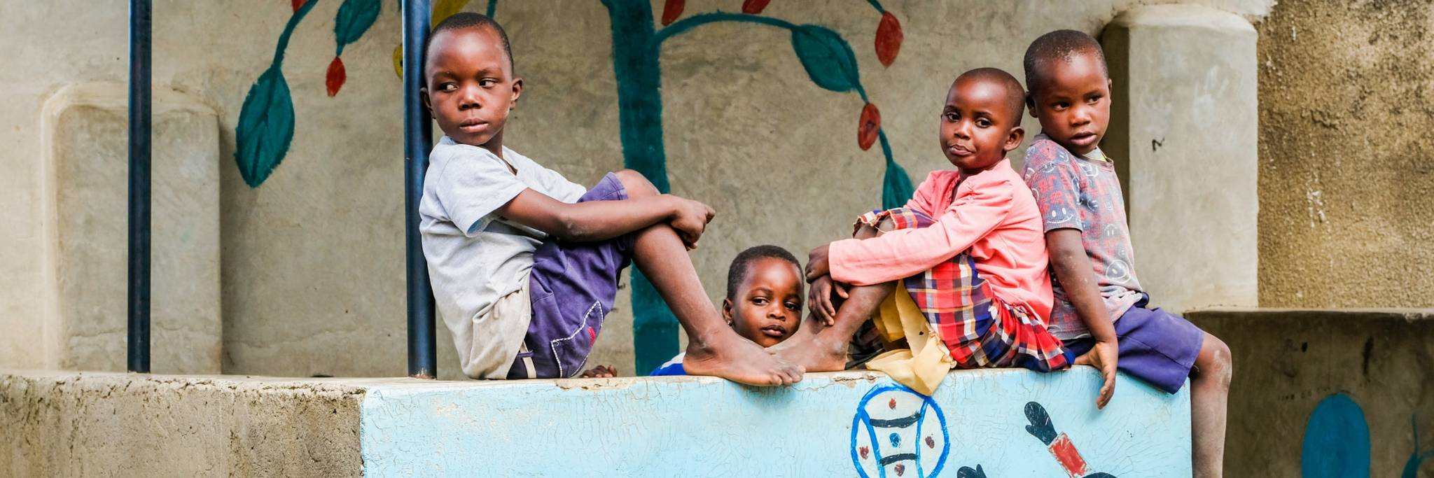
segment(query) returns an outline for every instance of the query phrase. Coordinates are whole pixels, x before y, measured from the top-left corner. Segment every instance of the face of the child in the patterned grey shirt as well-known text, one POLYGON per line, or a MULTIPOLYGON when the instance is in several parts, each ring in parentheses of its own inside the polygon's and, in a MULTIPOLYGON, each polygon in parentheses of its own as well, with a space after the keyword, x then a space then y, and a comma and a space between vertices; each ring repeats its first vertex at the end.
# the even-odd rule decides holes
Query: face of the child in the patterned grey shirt
POLYGON ((1045 66, 1041 90, 1031 95, 1041 132, 1077 155, 1100 146, 1110 125, 1110 78, 1096 55, 1045 66))

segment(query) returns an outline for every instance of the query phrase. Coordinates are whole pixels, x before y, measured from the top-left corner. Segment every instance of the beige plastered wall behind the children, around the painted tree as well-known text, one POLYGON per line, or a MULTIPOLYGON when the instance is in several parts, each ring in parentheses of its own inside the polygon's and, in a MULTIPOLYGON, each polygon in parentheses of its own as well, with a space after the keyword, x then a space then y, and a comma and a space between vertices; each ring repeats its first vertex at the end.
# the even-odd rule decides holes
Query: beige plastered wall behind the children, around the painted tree
MULTIPOLYGON (((244 95, 274 65, 290 3, 158 1, 155 85, 195 98, 218 116, 222 370, 307 376, 404 372, 400 95, 391 53, 399 17, 383 3, 376 23, 347 43, 347 80, 327 95, 334 17, 341 1, 317 1, 293 30, 284 73, 294 102, 294 141, 262 185, 234 162, 244 95)), ((482 10, 473 1, 469 10, 482 10)), ((1268 0, 1202 4, 1258 20, 1268 0)), ((977 66, 1020 72, 1040 33, 1091 33, 1144 1, 886 1, 902 23, 899 56, 882 66, 872 47, 879 14, 863 1, 776 1, 763 16, 832 29, 853 46, 859 79, 882 112, 893 159, 919 181, 944 168, 936 113, 951 78, 977 66)), ((687 14, 737 1, 690 1, 687 14)), ((663 1, 652 1, 661 11, 663 1)), ((611 24, 597 1, 499 1, 526 95, 509 142, 579 182, 622 165, 611 24)), ((0 32, 27 47, 0 57, 0 363, 44 366, 39 350, 53 317, 37 301, 47 270, 40 251, 43 191, 40 108, 73 82, 122 83, 123 4, 0 4, 0 32), (54 27, 83 26, 85 34, 54 27), (40 46, 46 47, 40 47, 40 46)), ((790 34, 760 24, 710 24, 661 49, 663 139, 677 194, 720 214, 694 253, 714 300, 727 261, 773 243, 796 253, 840 237, 850 217, 879 204, 883 156, 856 144, 862 100, 813 85, 790 52, 790 34), (793 208, 790 205, 800 205, 793 208)), ((1030 132, 1038 125, 1025 119, 1030 132)), ((1020 156, 1020 152, 1015 154, 1020 156)), ((115 238, 113 247, 123 240, 115 238)), ((1164 271, 1143 271, 1144 277, 1164 271)), ((102 278, 96 278, 102 280, 102 278)), ((103 278, 112 280, 112 278, 103 278)), ((113 278, 118 280, 118 278, 113 278)), ((627 293, 594 362, 632 373, 627 293)), ((156 304, 166 307, 166 304, 156 304)), ((115 310, 115 314, 122 311, 115 310)), ((456 362, 440 332, 440 375, 456 362)), ((105 345, 113 350, 113 343, 105 345)), ((156 365, 158 366, 158 365, 156 365)), ((645 372, 645 370, 640 370, 645 372)))

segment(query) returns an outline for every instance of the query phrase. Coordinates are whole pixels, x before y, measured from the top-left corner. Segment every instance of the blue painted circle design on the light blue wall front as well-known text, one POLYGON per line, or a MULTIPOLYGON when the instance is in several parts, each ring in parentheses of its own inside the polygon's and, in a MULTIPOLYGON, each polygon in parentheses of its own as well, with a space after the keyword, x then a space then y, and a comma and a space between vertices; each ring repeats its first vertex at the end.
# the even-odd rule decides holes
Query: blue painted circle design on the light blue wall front
POLYGON ((938 477, 949 454, 946 415, 929 396, 880 383, 856 405, 852 465, 859 477, 895 477, 891 471, 901 471, 902 478, 938 477))

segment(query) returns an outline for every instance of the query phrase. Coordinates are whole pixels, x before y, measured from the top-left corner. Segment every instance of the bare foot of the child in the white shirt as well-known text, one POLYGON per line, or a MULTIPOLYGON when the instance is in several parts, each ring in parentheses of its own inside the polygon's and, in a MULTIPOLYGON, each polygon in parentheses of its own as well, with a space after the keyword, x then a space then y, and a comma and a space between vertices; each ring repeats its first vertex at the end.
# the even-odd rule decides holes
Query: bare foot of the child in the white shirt
POLYGON ((695 340, 688 343, 683 370, 761 386, 802 382, 803 373, 800 366, 767 353, 737 333, 724 333, 701 345, 695 340))

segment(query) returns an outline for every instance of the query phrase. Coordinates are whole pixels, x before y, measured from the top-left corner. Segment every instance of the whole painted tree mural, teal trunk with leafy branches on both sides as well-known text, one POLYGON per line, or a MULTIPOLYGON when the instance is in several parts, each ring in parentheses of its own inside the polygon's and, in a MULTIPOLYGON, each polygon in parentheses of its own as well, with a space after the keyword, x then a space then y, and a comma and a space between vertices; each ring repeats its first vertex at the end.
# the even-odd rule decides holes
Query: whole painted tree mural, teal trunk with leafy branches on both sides
MULTIPOLYGON (((250 89, 239 112, 235 131, 235 162, 244 182, 258 188, 278 168, 294 138, 294 103, 284 79, 282 60, 288 39, 298 23, 320 0, 293 0, 290 19, 275 46, 274 62, 250 89)), ((645 0, 602 0, 612 24, 612 65, 618 83, 619 126, 624 167, 645 175, 663 192, 671 191, 667 175, 667 155, 663 144, 661 46, 673 37, 711 23, 744 23, 783 29, 792 33, 792 50, 816 86, 836 93, 856 93, 856 146, 869 151, 879 145, 885 158, 882 178, 883 208, 905 204, 912 194, 906 171, 892 156, 891 142, 880 126, 880 111, 870 102, 862 85, 856 55, 840 34, 817 24, 796 24, 761 16, 770 1, 746 0, 741 13, 701 13, 684 17, 685 1, 664 4, 658 29, 652 7, 645 0)), ((878 60, 891 66, 903 34, 901 22, 876 0, 866 1, 878 13, 873 42, 878 60)), ((463 10, 469 0, 437 0, 433 3, 433 23, 463 10)), ((486 13, 496 13, 496 0, 488 1, 486 13)), ((341 60, 344 46, 357 42, 373 26, 381 10, 380 0, 344 0, 334 17, 336 53, 330 62, 326 86, 328 96, 338 95, 347 75, 341 60)), ((402 44, 394 47, 394 70, 402 76, 402 44)), ((678 323, 657 294, 652 284, 637 270, 632 271, 632 343, 635 370, 650 370, 678 350, 678 323)))

